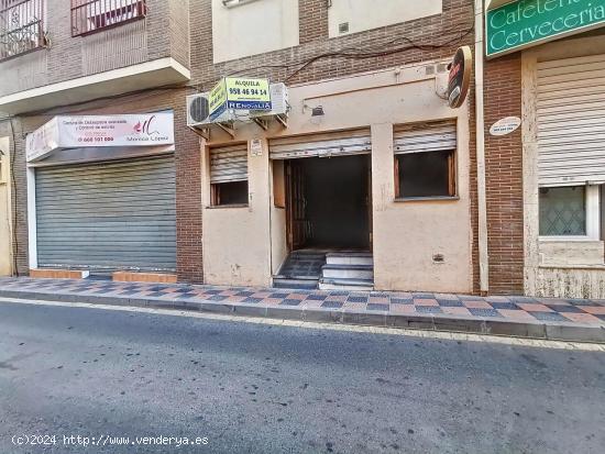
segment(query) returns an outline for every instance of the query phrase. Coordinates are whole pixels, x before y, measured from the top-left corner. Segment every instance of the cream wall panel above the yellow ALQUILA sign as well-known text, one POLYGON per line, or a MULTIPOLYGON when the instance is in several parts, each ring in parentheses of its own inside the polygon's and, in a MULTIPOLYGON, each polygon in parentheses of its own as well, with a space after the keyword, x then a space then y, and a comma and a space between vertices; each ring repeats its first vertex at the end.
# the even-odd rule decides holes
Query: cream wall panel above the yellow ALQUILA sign
POLYGON ((298 0, 252 1, 232 8, 212 0, 215 63, 296 45, 298 0))

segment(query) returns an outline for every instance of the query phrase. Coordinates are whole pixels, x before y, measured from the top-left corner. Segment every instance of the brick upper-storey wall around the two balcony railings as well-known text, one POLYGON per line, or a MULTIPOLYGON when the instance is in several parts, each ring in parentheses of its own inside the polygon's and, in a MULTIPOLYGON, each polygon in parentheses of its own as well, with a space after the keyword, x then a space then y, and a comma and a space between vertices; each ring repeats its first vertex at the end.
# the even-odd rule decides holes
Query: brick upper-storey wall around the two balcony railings
POLYGON ((147 0, 144 20, 76 37, 70 5, 47 2, 46 48, 0 62, 0 96, 163 57, 189 66, 189 0, 147 0))

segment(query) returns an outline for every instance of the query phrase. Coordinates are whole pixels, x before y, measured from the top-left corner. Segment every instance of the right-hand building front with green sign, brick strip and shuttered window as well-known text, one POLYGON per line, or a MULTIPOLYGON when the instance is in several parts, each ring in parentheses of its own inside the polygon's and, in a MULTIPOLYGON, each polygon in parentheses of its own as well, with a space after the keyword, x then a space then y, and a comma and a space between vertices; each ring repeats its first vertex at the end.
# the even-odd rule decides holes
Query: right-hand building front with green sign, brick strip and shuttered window
POLYGON ((603 298, 605 4, 502 3, 486 21, 487 51, 510 47, 485 64, 491 291, 603 298), (520 15, 504 25, 502 8, 520 15), (507 117, 520 128, 490 134, 507 117))

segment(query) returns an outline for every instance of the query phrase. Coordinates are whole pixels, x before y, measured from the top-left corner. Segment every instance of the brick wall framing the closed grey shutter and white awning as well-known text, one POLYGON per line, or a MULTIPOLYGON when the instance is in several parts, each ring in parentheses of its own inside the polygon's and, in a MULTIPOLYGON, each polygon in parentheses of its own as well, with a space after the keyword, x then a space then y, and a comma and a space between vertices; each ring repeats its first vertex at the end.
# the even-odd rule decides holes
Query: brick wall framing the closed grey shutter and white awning
MULTIPOLYGON (((12 121, 15 137, 12 203, 16 207, 16 235, 13 251, 18 272, 29 273, 28 190, 25 177, 25 135, 57 114, 111 114, 152 112, 173 109, 175 115, 177 276, 179 280, 201 283, 201 188, 199 180, 199 137, 186 128, 185 95, 187 90, 156 90, 122 97, 120 102, 100 100, 72 109, 57 109, 44 115, 20 117, 12 121)), ((0 121, 0 136, 12 135, 11 123, 0 121)))

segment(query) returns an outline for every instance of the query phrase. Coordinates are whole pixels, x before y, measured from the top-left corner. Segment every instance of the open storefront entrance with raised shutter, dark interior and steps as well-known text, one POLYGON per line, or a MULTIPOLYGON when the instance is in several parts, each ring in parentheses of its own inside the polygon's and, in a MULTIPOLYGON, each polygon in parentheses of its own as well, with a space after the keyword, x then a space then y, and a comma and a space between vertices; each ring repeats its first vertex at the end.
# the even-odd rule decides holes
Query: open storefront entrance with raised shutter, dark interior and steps
POLYGON ((271 145, 274 176, 276 169, 284 173, 289 252, 273 277, 274 286, 372 289, 369 131, 293 137, 271 145))

